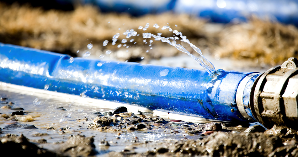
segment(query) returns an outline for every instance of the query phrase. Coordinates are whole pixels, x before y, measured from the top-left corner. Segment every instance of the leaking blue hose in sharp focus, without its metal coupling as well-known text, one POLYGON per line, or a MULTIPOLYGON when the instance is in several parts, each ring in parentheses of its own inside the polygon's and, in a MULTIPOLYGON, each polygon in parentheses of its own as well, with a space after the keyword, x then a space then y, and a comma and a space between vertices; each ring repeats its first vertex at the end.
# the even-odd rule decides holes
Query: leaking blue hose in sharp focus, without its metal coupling
POLYGON ((134 62, 79 57, 72 60, 69 55, 3 43, 0 73, 2 82, 37 89, 83 93, 91 98, 218 121, 256 121, 247 106, 259 73, 219 69, 209 74, 134 62), (243 89, 238 92, 240 85, 243 89), (237 93, 243 98, 241 103, 236 102, 237 93))

